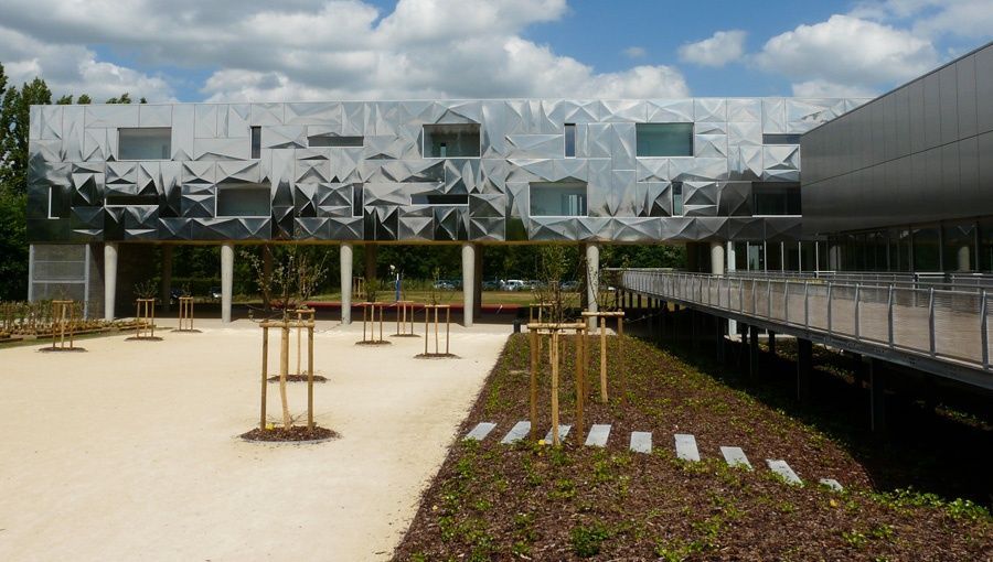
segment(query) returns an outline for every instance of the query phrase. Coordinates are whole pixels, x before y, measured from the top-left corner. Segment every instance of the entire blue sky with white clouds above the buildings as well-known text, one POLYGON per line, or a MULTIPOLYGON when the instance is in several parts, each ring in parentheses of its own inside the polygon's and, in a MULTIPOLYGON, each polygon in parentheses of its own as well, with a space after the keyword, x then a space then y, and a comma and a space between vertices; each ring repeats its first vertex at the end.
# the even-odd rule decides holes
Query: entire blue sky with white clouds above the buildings
POLYGON ((3 0, 0 64, 95 101, 871 97, 993 0, 3 0))

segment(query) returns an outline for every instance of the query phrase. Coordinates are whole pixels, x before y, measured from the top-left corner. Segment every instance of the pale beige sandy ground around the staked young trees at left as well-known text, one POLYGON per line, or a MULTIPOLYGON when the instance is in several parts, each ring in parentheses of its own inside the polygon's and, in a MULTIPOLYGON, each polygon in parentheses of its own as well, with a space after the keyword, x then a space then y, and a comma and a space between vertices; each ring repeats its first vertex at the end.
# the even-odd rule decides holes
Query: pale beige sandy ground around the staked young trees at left
POLYGON ((316 421, 341 439, 293 445, 236 437, 258 423, 261 331, 199 324, 0 349, 0 560, 386 559, 510 332, 452 326, 461 358, 424 360, 419 337, 356 346, 361 324, 319 323, 316 421))

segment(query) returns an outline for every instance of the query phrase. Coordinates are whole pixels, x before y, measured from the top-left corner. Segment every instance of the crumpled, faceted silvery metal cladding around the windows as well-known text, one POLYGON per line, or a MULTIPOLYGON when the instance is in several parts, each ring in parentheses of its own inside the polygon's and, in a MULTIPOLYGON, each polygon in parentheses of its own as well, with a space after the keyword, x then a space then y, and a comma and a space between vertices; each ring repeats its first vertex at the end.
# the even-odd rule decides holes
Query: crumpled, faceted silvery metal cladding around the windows
MULTIPOLYGON (((986 87, 981 74, 986 66, 975 62, 971 74, 947 78, 941 87, 986 87)), ((908 96, 899 107, 909 111, 914 101, 908 96)), ((766 225, 766 218, 743 223, 751 214, 750 182, 796 182, 800 174, 799 148, 764 145, 762 136, 805 132, 859 102, 700 98, 35 106, 29 237, 34 242, 789 237, 797 234, 794 227, 766 225), (568 158, 567 123, 574 126, 568 128, 574 134, 568 158), (638 156, 639 123, 694 123, 692 155, 638 156), (429 125, 442 127, 426 136, 429 125), (168 148, 156 147, 167 159, 119 161, 121 128, 171 128, 168 148), (472 150, 474 130, 478 154, 472 150), (426 145, 438 134, 460 140, 446 141, 445 149, 426 145), (426 158, 425 151, 430 156, 437 150, 452 152, 426 158), (556 182, 569 184, 573 193, 576 184, 586 186, 580 216, 532 216, 531 184, 556 182), (673 205, 676 182, 682 183, 682 206, 673 205), (269 216, 217 216, 218 186, 238 184, 269 187, 269 216), (108 195, 115 204, 106 205, 108 195), (674 208, 682 208, 683 216, 672 216, 674 208), (729 228, 733 217, 736 226, 729 228)), ((979 125, 985 109, 969 104, 965 99, 959 106, 979 125)), ((970 129, 957 125, 957 130, 970 129)), ((953 161, 950 153, 940 160, 947 165, 953 161)))

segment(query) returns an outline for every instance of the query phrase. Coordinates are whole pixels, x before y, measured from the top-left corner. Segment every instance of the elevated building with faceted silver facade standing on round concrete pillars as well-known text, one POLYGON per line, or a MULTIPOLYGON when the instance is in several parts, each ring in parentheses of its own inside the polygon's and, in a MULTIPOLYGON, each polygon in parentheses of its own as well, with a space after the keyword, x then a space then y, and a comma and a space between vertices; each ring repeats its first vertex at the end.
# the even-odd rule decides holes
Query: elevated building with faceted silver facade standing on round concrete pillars
POLYGON ((688 244, 702 270, 815 269, 800 134, 863 101, 35 106, 30 296, 113 317, 141 280, 119 264, 177 244, 223 246, 225 318, 234 245, 340 244, 343 278, 354 244, 461 244, 467 281, 479 245, 520 242, 586 244, 592 260, 598 244, 688 244))

